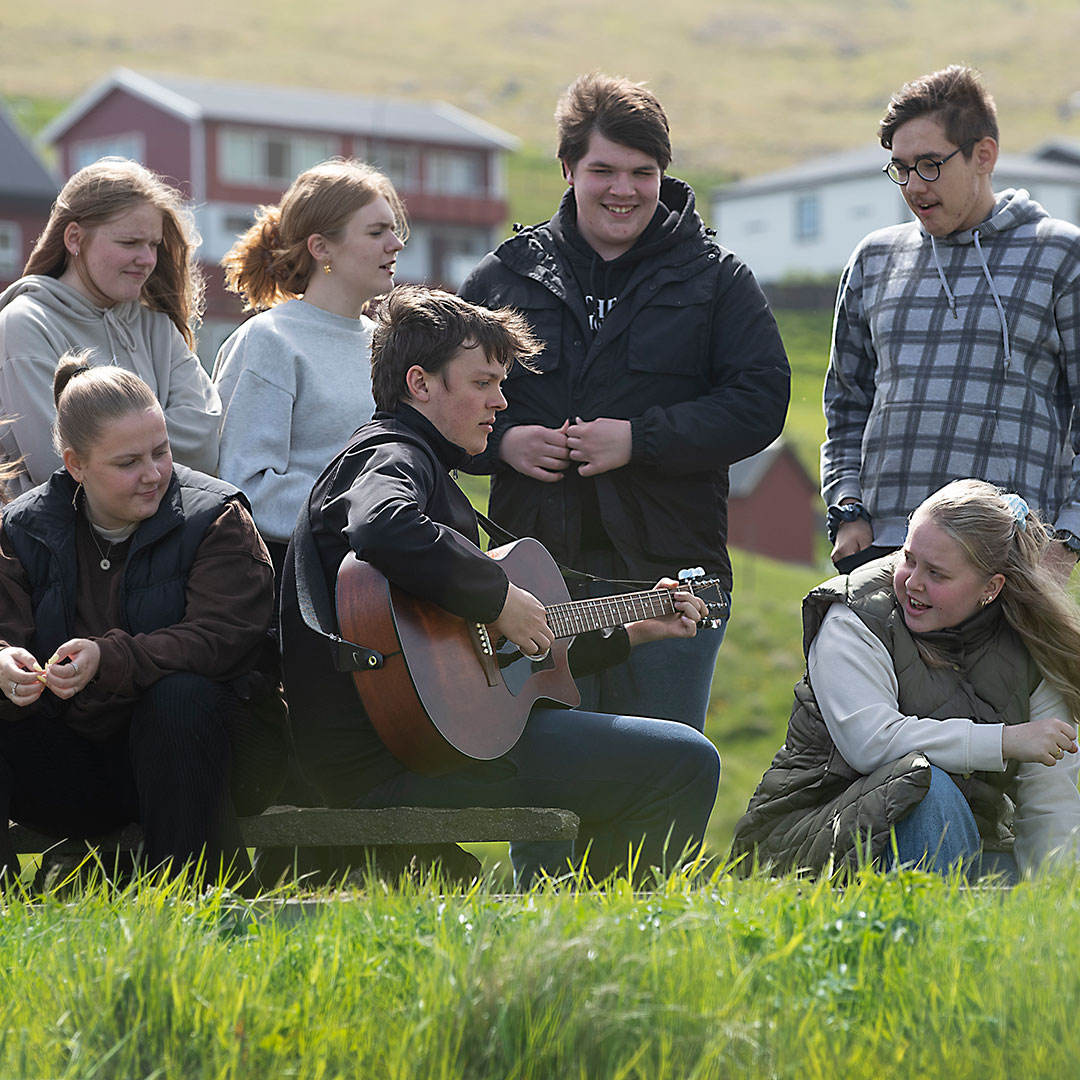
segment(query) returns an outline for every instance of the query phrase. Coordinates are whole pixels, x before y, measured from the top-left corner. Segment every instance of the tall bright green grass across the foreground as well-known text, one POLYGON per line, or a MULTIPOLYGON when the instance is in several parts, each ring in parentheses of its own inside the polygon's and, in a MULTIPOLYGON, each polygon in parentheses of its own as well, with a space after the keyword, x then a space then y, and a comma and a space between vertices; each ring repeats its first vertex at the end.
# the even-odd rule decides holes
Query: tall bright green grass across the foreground
POLYGON ((305 907, 175 887, 16 901, 0 1075, 1068 1077, 1078 883, 717 875, 521 897, 373 883, 305 907))

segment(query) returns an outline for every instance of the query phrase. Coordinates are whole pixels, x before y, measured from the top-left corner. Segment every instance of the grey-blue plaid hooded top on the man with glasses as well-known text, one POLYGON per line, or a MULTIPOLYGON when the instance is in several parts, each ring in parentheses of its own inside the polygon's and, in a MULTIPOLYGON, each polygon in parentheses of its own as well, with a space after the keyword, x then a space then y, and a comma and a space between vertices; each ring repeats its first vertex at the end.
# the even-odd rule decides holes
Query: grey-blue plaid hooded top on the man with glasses
POLYGON ((1078 403, 1080 229, 1023 190, 936 249, 915 221, 880 229, 840 279, 822 495, 862 499, 899 546, 923 499, 975 476, 1080 536, 1078 403))

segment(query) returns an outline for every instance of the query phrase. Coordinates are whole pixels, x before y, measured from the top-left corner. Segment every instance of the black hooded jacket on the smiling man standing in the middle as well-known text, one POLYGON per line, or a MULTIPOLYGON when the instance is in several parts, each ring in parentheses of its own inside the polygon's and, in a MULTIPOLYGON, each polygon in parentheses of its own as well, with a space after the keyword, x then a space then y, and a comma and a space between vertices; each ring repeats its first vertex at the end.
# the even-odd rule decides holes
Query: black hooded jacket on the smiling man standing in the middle
POLYGON ((582 550, 580 477, 523 476, 499 461, 498 443, 514 424, 630 420, 630 463, 595 478, 603 530, 625 572, 653 580, 702 565, 730 588, 728 465, 780 433, 787 356, 753 274, 708 239, 689 186, 665 177, 660 198, 666 219, 638 241, 644 251, 621 257, 633 265, 595 333, 559 243, 572 222, 570 192, 555 218, 508 240, 470 274, 465 299, 518 309, 546 347, 540 376, 511 372, 510 407, 469 471, 494 473, 490 514, 500 525, 572 564, 582 550))

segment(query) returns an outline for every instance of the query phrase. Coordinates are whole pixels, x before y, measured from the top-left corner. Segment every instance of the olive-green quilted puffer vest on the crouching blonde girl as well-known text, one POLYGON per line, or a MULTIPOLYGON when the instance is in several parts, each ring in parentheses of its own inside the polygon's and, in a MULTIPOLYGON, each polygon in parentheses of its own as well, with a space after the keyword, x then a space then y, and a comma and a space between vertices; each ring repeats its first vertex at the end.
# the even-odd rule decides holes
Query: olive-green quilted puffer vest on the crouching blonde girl
MULTIPOLYGON (((1024 724, 1041 675, 1020 636, 993 604, 959 626, 913 634, 892 591, 895 556, 876 559, 833 578, 802 602, 802 648, 833 604, 845 604, 880 639, 893 659, 901 710, 909 716, 970 716, 976 724, 1024 724), (919 649, 944 661, 932 664, 919 649)), ((974 813, 984 846, 1012 842, 1012 802, 1007 789, 1016 762, 1004 772, 951 774, 974 813)), ((930 786, 927 758, 913 752, 868 775, 840 756, 822 718, 809 675, 795 687, 787 740, 735 825, 732 856, 748 872, 756 852, 773 872, 821 873, 829 864, 852 869, 880 859, 890 828, 905 818, 930 786)))

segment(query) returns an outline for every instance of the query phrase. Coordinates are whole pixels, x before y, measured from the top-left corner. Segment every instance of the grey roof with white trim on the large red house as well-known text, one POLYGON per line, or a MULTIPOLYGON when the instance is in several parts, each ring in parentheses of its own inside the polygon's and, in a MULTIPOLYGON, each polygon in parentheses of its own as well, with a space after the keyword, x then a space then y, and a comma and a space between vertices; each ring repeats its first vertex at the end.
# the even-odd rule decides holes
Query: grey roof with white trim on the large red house
POLYGON ((406 141, 516 149, 508 132, 445 102, 404 102, 307 86, 271 86, 117 68, 42 132, 55 143, 113 90, 195 122, 216 120, 293 130, 343 132, 406 141))

